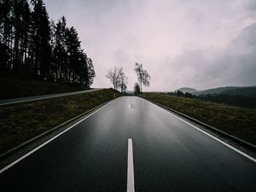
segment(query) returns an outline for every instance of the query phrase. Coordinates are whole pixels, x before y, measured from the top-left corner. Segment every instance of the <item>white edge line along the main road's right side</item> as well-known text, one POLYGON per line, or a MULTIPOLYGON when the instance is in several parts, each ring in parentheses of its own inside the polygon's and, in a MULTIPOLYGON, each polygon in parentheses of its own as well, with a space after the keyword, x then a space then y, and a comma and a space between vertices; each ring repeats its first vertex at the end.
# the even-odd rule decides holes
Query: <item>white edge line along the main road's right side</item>
MULTIPOLYGON (((151 103, 152 103, 152 102, 151 102, 151 103)), ((156 105, 156 104, 154 104, 154 103, 152 103, 152 104, 155 105, 155 106, 157 106, 157 107, 159 107, 159 108, 161 108, 160 106, 158 106, 158 105, 156 105)), ((167 111, 165 108, 161 108, 161 109, 164 109, 165 111, 167 111)), ((169 112, 169 111, 167 111, 167 112, 169 112)), ((170 113, 170 114, 172 114, 172 116, 176 117, 177 119, 180 119, 180 120, 183 121, 184 123, 186 123, 186 124, 188 124, 188 125, 194 127, 196 130, 203 132, 203 133, 206 134, 208 137, 212 137, 213 139, 215 139, 215 140, 218 141, 219 143, 224 144, 224 145, 227 146, 228 148, 231 148, 231 149, 233 149, 234 151, 236 151, 238 154, 241 154, 241 155, 243 155, 244 157, 246 157, 247 159, 253 160, 253 162, 256 163, 256 159, 254 159, 254 158, 253 158, 252 156, 250 156, 249 154, 246 154, 246 153, 242 152, 242 151, 239 150, 238 148, 235 148, 235 147, 231 146, 231 145, 228 144, 228 143, 224 143, 224 141, 218 139, 217 137, 212 136, 210 133, 207 133, 206 131, 201 130, 201 129, 200 129, 199 127, 197 127, 197 126, 190 124, 190 123, 187 122, 186 120, 177 117, 175 114, 173 114, 173 113, 170 113)))

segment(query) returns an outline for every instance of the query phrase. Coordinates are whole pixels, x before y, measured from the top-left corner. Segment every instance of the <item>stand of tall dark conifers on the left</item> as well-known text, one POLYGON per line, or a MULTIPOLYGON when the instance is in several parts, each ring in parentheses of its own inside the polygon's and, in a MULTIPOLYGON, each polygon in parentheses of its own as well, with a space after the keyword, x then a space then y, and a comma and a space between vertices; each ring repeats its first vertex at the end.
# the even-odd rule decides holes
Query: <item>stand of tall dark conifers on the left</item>
POLYGON ((43 0, 0 0, 0 74, 87 87, 96 76, 76 29, 49 21, 43 0))

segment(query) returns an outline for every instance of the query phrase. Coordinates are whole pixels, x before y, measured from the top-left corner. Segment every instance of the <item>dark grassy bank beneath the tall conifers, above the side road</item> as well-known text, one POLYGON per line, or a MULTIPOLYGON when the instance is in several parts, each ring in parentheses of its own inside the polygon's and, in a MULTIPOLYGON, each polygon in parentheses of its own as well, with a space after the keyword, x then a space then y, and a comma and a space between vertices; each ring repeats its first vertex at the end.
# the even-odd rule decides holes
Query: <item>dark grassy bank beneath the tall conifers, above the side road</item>
POLYGON ((21 81, 0 77, 0 99, 17 98, 23 96, 42 96, 77 90, 88 90, 79 84, 59 84, 37 81, 21 81))

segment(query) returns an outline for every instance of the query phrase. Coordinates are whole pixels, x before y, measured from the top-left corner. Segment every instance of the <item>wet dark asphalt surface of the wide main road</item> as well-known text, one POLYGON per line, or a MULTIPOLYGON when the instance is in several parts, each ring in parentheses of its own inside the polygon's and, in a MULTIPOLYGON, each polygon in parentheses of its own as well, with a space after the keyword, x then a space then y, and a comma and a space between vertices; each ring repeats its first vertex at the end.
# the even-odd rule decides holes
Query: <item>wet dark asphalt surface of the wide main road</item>
POLYGON ((1 191, 255 191, 256 163, 138 97, 120 97, 0 174, 1 191), (4 190, 2 190, 4 189, 4 190))

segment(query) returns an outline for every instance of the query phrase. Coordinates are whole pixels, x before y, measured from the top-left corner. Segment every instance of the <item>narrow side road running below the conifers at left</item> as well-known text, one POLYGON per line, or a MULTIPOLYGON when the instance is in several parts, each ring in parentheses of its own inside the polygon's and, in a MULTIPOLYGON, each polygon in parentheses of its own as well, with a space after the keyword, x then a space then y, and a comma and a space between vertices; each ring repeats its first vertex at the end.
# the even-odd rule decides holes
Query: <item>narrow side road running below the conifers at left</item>
POLYGON ((96 90, 102 90, 102 89, 93 89, 93 90, 79 90, 79 91, 73 91, 73 92, 65 92, 65 93, 57 93, 57 94, 49 94, 44 96, 26 96, 26 97, 20 97, 20 98, 13 98, 13 99, 3 99, 0 100, 0 106, 3 105, 10 105, 20 102, 33 102, 38 100, 44 100, 44 99, 50 99, 60 96, 72 96, 72 95, 78 95, 82 93, 88 93, 96 90))

